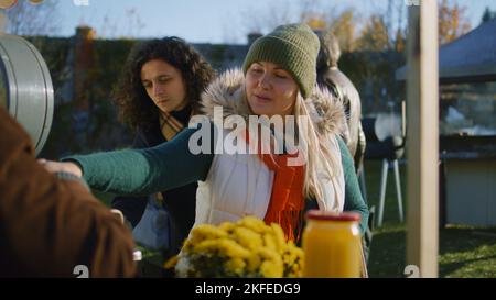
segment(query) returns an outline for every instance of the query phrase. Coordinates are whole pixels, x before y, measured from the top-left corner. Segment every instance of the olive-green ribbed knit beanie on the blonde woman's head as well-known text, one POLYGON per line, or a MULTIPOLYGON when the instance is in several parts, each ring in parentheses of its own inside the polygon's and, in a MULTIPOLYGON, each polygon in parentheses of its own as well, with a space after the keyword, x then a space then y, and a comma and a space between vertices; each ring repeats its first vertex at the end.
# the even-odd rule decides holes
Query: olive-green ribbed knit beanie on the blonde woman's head
POLYGON ((300 87, 301 95, 306 98, 316 81, 316 57, 319 37, 305 24, 278 26, 271 33, 257 38, 246 55, 242 70, 256 62, 270 62, 289 71, 300 87))

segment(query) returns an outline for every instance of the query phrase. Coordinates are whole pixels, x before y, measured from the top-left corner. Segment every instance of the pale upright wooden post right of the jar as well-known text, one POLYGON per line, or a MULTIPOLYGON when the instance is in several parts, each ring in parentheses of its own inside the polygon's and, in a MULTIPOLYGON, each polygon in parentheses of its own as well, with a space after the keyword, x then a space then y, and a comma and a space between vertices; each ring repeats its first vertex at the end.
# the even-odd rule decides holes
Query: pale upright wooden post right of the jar
POLYGON ((438 277, 439 68, 438 1, 409 7, 407 48, 407 265, 438 277))

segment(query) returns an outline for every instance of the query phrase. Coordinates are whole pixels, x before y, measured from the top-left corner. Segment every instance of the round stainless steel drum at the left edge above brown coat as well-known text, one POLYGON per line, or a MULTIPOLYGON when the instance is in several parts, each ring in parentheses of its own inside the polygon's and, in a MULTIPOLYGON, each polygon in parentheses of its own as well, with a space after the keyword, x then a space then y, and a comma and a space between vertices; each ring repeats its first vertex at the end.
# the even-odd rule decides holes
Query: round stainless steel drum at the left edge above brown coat
POLYGON ((20 36, 0 34, 0 105, 25 129, 41 152, 53 119, 53 86, 40 52, 20 36))

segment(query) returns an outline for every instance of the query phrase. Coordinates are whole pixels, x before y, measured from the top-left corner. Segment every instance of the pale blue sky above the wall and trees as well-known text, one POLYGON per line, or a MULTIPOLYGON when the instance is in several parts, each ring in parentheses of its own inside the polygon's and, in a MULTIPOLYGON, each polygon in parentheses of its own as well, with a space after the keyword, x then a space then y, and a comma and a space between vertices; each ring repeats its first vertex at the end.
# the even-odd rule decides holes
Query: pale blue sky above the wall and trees
MULTIPOLYGON (((71 36, 77 25, 89 25, 103 38, 161 37, 176 35, 191 43, 245 44, 257 24, 277 22, 276 15, 298 20, 305 0, 53 0, 58 1, 60 36, 71 36), (276 10, 276 12, 273 11, 276 10), (267 21, 269 19, 269 21, 267 21), (263 21, 261 21, 263 20, 263 21)), ((403 0, 396 0, 401 3, 403 0)), ((314 8, 338 13, 353 9, 363 16, 386 12, 387 0, 306 0, 314 8)), ((457 0, 466 7, 472 26, 479 24, 486 7, 496 11, 496 0, 457 0)), ((405 7, 406 8, 406 7, 405 7)), ((395 10, 396 11, 396 10, 395 10)), ((403 10, 406 12, 406 9, 403 10)), ((399 13, 393 13, 397 23, 399 13)), ((403 21, 406 22, 406 20, 403 21)))

